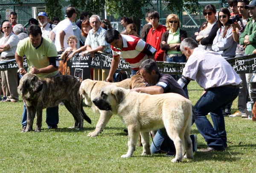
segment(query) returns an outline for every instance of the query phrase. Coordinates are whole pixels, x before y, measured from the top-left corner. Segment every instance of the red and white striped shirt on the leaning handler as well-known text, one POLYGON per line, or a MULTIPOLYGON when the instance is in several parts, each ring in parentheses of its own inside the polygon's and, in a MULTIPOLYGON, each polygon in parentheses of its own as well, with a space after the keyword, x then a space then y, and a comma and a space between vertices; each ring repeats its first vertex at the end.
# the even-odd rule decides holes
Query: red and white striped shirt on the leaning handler
POLYGON ((139 37, 133 35, 122 35, 123 47, 122 49, 117 49, 111 46, 113 57, 124 58, 127 63, 130 64, 132 69, 139 69, 140 64, 148 59, 148 55, 143 53, 143 50, 147 46, 145 41, 139 37))

